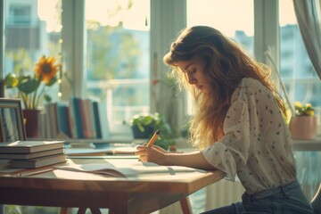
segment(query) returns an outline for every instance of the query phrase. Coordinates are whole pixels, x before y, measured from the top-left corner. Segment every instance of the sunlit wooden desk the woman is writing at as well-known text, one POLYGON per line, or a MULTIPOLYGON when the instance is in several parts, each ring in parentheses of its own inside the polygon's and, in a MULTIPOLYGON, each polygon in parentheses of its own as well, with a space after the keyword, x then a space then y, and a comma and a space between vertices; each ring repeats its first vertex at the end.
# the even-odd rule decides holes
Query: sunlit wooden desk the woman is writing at
MULTIPOLYGON (((75 163, 124 161, 72 159, 75 163)), ((136 159, 128 160, 137 161, 136 159)), ((21 176, 0 175, 0 204, 109 208, 110 213, 150 213, 223 178, 220 171, 103 177, 61 169, 21 176)))

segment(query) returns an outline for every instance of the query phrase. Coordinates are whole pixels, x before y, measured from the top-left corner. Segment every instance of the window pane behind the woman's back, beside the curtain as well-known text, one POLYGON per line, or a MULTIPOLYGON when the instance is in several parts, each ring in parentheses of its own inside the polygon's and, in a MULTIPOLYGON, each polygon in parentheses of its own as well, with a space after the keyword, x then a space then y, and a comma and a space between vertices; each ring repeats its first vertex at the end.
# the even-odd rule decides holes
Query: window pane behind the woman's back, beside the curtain
POLYGON ((280 73, 292 103, 321 106, 321 83, 304 46, 292 0, 279 1, 280 73))

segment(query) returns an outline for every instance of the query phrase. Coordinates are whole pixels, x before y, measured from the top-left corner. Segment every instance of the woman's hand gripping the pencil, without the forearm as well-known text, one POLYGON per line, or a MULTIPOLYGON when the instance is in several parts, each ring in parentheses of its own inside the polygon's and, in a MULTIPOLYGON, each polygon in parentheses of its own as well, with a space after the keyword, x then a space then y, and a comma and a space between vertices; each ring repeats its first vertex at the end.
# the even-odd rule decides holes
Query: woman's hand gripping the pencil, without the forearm
POLYGON ((146 145, 136 146, 135 154, 139 156, 139 160, 143 162, 154 162, 160 165, 166 165, 167 152, 160 146, 153 145, 148 147, 146 145))

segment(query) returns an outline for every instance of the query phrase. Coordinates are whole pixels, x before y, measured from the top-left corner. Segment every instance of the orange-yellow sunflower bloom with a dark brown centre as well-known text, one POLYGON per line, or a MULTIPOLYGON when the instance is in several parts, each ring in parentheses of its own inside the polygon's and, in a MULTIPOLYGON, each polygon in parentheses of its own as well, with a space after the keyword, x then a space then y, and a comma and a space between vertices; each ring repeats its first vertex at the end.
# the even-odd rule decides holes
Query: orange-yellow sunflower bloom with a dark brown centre
POLYGON ((37 78, 41 77, 41 81, 44 81, 45 84, 50 83, 52 78, 55 77, 57 71, 59 70, 60 65, 55 65, 55 61, 56 59, 51 56, 47 58, 45 56, 42 56, 39 59, 39 62, 37 62, 36 64, 35 75, 37 78))

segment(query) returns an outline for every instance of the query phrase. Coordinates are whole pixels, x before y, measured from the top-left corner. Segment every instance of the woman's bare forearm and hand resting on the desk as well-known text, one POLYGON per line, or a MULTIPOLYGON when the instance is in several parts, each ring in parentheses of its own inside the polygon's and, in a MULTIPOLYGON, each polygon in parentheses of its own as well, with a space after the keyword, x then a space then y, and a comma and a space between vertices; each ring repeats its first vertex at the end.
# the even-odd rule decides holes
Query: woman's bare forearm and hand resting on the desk
POLYGON ((202 155, 202 152, 172 153, 160 147, 147 147, 139 145, 136 147, 136 155, 140 161, 154 162, 164 166, 185 166, 196 169, 215 169, 202 155))

